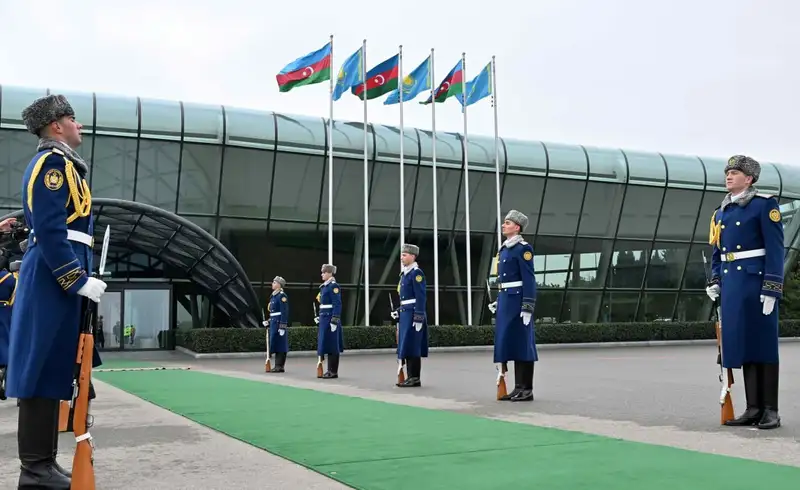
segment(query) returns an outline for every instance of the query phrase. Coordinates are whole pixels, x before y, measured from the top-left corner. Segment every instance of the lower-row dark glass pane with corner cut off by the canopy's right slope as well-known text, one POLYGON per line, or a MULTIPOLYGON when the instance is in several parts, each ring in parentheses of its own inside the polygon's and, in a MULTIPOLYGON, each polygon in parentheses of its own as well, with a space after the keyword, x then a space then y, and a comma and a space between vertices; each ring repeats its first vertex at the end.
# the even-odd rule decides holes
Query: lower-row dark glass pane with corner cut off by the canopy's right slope
POLYGON ((251 282, 260 282, 264 274, 266 232, 266 220, 219 220, 219 241, 236 257, 251 282))

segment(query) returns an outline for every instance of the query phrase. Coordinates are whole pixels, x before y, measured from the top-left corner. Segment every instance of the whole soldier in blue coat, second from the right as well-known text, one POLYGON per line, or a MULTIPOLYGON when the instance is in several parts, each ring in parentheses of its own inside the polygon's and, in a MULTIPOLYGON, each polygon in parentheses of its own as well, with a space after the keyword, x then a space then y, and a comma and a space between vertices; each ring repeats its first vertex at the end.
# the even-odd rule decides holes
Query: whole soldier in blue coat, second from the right
POLYGON ((514 361, 514 389, 503 400, 533 400, 533 366, 539 360, 533 312, 536 307, 536 277, 533 269, 533 247, 521 233, 528 217, 511 210, 502 225, 506 240, 497 260, 497 301, 489 305, 496 314, 494 330, 494 362, 514 361))

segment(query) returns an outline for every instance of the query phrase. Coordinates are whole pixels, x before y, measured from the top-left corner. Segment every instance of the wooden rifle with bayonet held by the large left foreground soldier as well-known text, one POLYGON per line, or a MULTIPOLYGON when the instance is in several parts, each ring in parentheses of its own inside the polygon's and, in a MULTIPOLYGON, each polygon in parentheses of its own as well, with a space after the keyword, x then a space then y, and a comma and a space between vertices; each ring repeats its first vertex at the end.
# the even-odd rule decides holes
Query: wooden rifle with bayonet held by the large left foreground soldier
MULTIPOLYGON (((94 277, 103 277, 108 258, 108 242, 111 226, 106 226, 103 236, 103 249, 100 253, 100 267, 94 277)), ((97 324, 98 304, 89 298, 84 299, 84 316, 78 338, 78 353, 75 359, 75 373, 72 379, 72 399, 69 401, 67 426, 72 426, 75 434, 75 456, 72 458, 72 483, 70 488, 94 490, 94 444, 88 431, 89 392, 92 381, 92 355, 94 354, 94 326, 97 324)), ((59 414, 63 416, 63 412, 59 414)))

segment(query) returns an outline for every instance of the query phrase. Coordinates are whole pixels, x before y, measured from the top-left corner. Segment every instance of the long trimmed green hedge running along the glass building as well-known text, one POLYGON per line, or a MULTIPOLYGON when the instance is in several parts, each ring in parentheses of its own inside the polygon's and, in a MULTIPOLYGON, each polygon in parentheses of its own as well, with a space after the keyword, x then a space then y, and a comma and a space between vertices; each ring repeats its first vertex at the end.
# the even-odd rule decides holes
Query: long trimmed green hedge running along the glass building
MULTIPOLYGON (((431 347, 492 345, 494 326, 428 327, 431 347)), ((264 352, 266 329, 200 328, 176 332, 176 343, 197 353, 264 352)), ((800 337, 800 320, 780 322, 781 337, 800 337)), ((537 344, 714 339, 713 322, 573 323, 536 325, 537 344)), ((395 327, 344 327, 345 350, 395 348, 395 327)), ((290 327, 289 349, 317 350, 317 327, 290 327)))

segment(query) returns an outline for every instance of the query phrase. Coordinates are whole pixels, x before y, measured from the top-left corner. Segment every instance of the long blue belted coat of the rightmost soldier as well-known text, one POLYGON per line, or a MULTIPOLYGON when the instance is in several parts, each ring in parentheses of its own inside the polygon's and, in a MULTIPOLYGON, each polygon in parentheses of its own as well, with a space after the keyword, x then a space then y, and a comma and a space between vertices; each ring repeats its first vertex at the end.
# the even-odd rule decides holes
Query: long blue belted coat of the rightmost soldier
POLYGON ((783 294, 783 224, 778 200, 756 194, 711 218, 712 282, 720 285, 722 365, 778 362, 778 306, 783 294), (761 296, 775 308, 764 315, 761 296))

